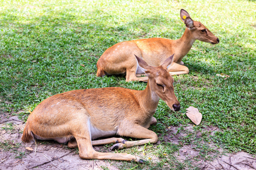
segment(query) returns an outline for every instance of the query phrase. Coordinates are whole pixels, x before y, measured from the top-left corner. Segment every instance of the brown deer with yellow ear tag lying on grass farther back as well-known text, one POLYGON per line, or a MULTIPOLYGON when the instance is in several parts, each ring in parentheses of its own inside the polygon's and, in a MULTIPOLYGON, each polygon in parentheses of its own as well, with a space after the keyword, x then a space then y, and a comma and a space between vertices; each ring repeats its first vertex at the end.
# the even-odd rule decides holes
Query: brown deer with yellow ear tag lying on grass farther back
POLYGON ((97 62, 97 76, 125 74, 126 81, 147 81, 147 77, 137 77, 143 74, 133 54, 141 57, 151 66, 160 66, 164 60, 175 53, 172 65, 168 67, 171 75, 188 74, 188 67, 181 59, 189 52, 196 40, 218 44, 220 40, 203 24, 193 21, 185 10, 180 10, 180 18, 186 29, 178 40, 163 38, 140 39, 119 42, 102 54, 97 62))

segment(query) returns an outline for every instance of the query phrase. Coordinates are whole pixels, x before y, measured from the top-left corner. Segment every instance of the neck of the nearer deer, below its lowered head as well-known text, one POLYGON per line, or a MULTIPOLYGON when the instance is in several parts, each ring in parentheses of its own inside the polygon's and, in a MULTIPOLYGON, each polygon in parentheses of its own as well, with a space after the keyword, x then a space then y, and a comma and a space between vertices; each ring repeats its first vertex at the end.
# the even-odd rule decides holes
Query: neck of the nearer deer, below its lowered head
POLYGON ((148 114, 148 116, 153 116, 158 107, 159 96, 156 95, 154 91, 152 91, 150 87, 150 79, 148 79, 147 87, 145 90, 141 91, 139 103, 144 113, 148 114))

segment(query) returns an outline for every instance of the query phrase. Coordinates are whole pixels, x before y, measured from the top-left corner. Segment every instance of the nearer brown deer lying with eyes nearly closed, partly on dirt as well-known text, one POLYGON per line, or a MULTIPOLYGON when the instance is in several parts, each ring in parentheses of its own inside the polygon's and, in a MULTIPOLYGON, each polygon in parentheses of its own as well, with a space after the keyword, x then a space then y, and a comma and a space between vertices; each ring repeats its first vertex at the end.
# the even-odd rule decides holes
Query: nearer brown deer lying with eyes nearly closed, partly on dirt
POLYGON ((174 78, 166 70, 172 58, 173 55, 161 66, 153 67, 137 57, 139 66, 148 76, 147 87, 143 91, 108 87, 73 90, 49 97, 28 117, 22 141, 31 142, 36 138, 68 142, 68 147, 79 147, 82 159, 143 162, 130 154, 97 152, 92 146, 116 143, 112 146, 115 150, 158 141, 158 136, 148 128, 156 123, 153 115, 159 97, 172 111, 180 110, 180 103, 174 94, 174 78), (93 141, 115 134, 142 140, 108 138, 93 141))

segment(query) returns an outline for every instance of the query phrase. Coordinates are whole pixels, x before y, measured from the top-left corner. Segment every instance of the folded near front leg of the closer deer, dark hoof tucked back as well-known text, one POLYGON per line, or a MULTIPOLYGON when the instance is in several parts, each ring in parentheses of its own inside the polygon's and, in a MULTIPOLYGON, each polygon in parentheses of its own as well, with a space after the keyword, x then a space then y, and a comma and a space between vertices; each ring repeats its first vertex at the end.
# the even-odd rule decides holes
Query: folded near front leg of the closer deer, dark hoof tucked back
POLYGON ((139 141, 124 141, 122 143, 116 143, 110 149, 120 150, 124 147, 133 147, 138 145, 144 145, 145 143, 156 143, 158 142, 158 135, 154 131, 148 130, 140 125, 133 125, 132 128, 126 128, 125 130, 118 129, 118 134, 121 136, 142 138, 139 141))

